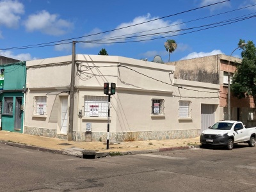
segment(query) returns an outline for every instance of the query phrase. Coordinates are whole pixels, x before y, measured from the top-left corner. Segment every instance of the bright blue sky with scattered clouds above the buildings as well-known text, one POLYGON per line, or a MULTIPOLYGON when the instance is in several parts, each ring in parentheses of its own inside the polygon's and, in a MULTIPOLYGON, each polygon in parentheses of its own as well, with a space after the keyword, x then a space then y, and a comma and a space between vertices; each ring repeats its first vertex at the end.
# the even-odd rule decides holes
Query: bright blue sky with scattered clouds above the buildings
POLYGON ((148 61, 159 55, 167 62, 164 42, 173 39, 178 48, 170 61, 230 55, 239 39, 255 42, 256 0, 221 1, 0 0, 0 55, 22 61, 66 56, 72 54, 71 38, 84 41, 77 43, 77 54, 98 54, 104 48, 109 55, 148 61), (201 8, 213 3, 218 4, 201 8), (118 28, 124 29, 113 31, 118 28), (45 44, 51 42, 69 44, 45 44), (51 46, 9 49, 38 44, 51 46))

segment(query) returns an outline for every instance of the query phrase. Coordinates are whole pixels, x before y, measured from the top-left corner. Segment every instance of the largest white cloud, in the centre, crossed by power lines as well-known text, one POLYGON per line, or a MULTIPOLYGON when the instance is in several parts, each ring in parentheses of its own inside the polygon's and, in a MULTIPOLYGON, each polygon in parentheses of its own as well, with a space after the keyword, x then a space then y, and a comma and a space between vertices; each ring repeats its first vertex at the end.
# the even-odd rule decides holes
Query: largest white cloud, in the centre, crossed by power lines
MULTIPOLYGON (((156 38, 159 36, 170 36, 170 35, 177 35, 179 34, 178 30, 184 26, 184 24, 180 24, 180 20, 175 22, 164 21, 163 19, 159 19, 159 17, 151 17, 148 13, 145 16, 139 16, 134 18, 131 22, 125 22, 119 24, 115 29, 116 31, 112 31, 108 33, 108 35, 100 34, 97 36, 89 36, 84 38, 83 40, 99 40, 100 38, 108 39, 108 43, 114 44, 116 42, 124 42, 125 40, 122 38, 127 38, 127 41, 143 41, 143 40, 150 40, 152 38, 156 38), (154 20, 152 22, 148 22, 149 20, 154 20), (143 23, 143 24, 140 24, 143 23), (138 24, 138 25, 137 25, 138 24), (131 26, 127 28, 128 26, 131 26), (173 31, 173 32, 170 32, 173 31), (167 33, 164 33, 167 32, 167 33), (150 35, 152 34, 152 35, 150 35), (149 35, 149 36, 143 36, 149 35), (132 37, 134 36, 134 37, 132 37), (139 37, 140 36, 140 37, 139 37), (132 37, 132 38, 131 38, 132 37), (118 39, 116 39, 118 38, 118 39)), ((95 30, 99 33, 100 29, 94 29, 87 35, 95 33, 95 30)), ((109 45, 109 44, 106 44, 109 45)), ((85 47, 99 47, 102 44, 85 44, 85 47)))

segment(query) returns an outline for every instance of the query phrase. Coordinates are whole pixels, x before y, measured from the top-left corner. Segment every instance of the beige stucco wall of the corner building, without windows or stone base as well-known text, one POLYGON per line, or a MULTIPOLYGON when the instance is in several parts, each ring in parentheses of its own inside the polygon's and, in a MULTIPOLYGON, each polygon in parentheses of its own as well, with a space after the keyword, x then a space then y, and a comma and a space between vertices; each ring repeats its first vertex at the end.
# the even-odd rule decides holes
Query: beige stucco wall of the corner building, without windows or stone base
MULTIPOLYGON (((216 105, 219 120, 219 85, 173 79, 175 66, 119 56, 76 56, 74 131, 83 134, 86 123, 92 132, 106 132, 108 118, 79 116, 84 113, 84 97, 106 96, 105 82, 116 83, 111 95, 110 132, 186 131, 201 129, 201 104, 216 105), (154 79, 152 79, 154 78, 154 79), (182 86, 183 88, 177 88, 182 86), (164 114, 151 114, 151 100, 164 99, 164 114), (191 101, 191 118, 179 118, 179 100, 191 101)), ((68 97, 71 56, 27 61, 25 127, 60 132, 61 97, 68 97), (33 116, 33 98, 47 95, 47 115, 33 116)))

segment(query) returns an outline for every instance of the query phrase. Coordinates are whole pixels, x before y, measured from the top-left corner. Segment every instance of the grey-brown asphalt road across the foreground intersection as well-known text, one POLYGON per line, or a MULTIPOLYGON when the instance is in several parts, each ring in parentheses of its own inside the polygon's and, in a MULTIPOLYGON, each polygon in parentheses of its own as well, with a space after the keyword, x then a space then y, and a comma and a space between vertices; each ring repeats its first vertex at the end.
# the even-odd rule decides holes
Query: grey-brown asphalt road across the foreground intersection
POLYGON ((0 144, 0 191, 256 191, 256 147, 81 159, 0 144))

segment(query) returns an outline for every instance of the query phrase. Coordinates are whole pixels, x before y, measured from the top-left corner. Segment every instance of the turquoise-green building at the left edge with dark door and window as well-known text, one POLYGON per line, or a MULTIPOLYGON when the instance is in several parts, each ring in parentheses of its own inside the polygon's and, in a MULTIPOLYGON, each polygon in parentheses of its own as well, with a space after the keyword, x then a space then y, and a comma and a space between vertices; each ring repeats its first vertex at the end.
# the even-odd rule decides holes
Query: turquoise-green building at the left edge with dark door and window
POLYGON ((1 129, 23 132, 26 61, 0 65, 1 129))

